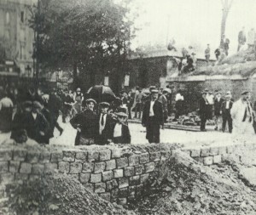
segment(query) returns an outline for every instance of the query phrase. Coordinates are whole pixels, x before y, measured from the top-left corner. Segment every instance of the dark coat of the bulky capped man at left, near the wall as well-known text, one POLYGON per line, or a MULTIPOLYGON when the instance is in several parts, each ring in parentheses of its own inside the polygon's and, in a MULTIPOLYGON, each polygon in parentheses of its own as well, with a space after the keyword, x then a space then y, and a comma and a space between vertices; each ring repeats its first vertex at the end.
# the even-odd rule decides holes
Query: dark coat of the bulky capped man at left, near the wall
POLYGON ((37 118, 34 120, 32 113, 26 114, 25 122, 27 136, 30 139, 36 140, 38 143, 45 143, 45 134, 47 134, 49 130, 49 123, 44 115, 38 113, 37 118), (40 132, 44 132, 44 136, 42 136, 40 132))

